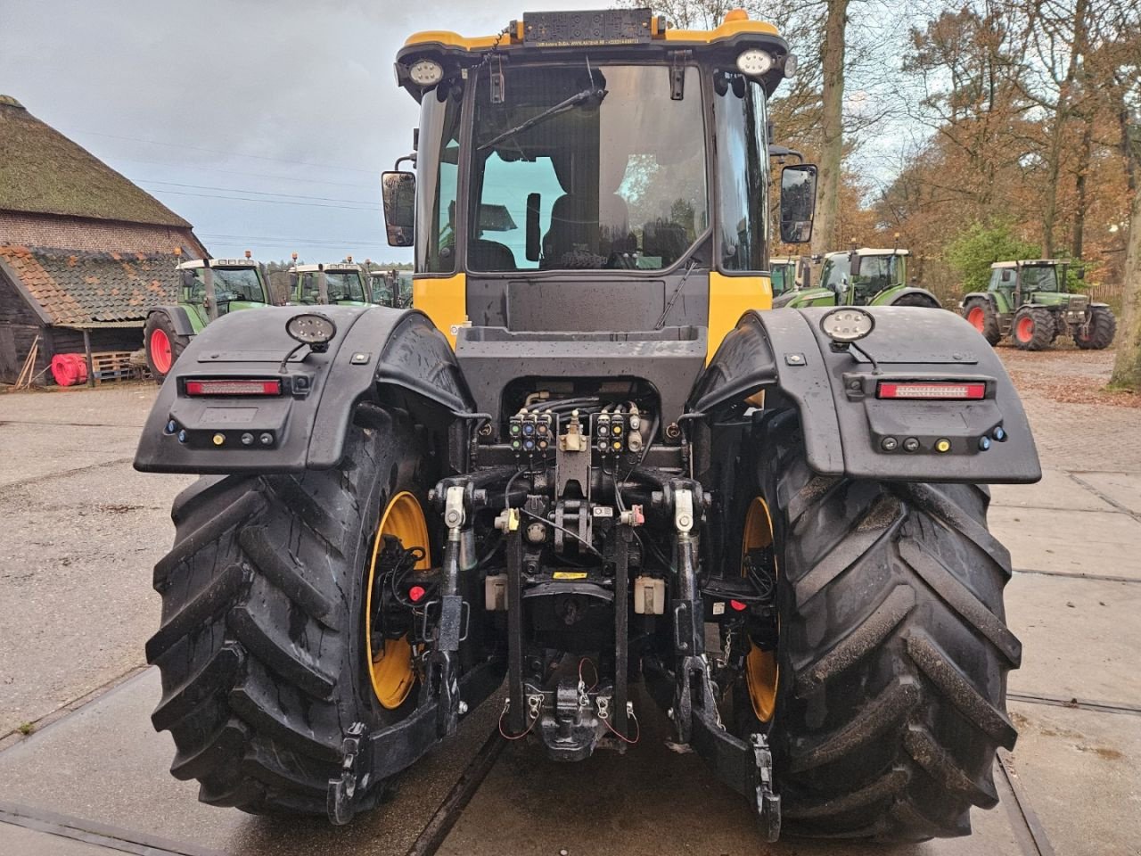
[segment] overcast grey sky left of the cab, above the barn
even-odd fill
[[[418,118],[396,51],[416,31],[482,35],[568,6],[582,3],[0,0],[0,94],[189,220],[213,256],[410,261],[380,211],[380,173]]]

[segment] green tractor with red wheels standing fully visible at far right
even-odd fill
[[[1009,336],[1017,348],[1042,350],[1062,334],[1083,350],[1108,348],[1117,332],[1112,310],[1069,291],[1068,273],[1069,264],[1055,259],[996,261],[987,290],[966,294],[960,308],[992,345]]]

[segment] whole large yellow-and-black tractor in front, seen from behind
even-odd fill
[[[1021,649],[986,485],[1037,481],[1034,439],[962,318],[767,312],[794,71],[741,10],[400,48],[413,307],[222,318],[139,441],[202,476],[147,643],[202,801],[348,823],[502,687],[537,775],[656,717],[770,841],[964,835],[997,802]],[[816,176],[782,170],[785,243]]]

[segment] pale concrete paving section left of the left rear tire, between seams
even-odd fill
[[[0,491],[0,736],[143,664],[152,568],[193,481],[121,462]]]

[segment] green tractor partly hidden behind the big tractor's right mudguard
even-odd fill
[[[939,298],[907,282],[907,250],[852,248],[824,257],[820,284],[798,289],[772,301],[772,307],[791,306],[926,306],[941,307]]]

